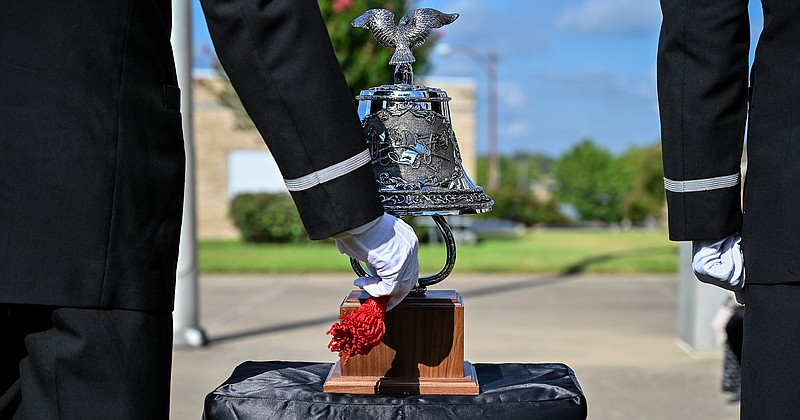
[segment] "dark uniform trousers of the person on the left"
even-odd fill
[[[167,419],[172,314],[0,304],[0,419]]]

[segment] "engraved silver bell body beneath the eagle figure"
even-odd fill
[[[394,84],[362,90],[357,99],[387,212],[433,216],[491,210],[492,200],[462,167],[447,92]]]

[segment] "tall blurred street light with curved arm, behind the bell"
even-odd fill
[[[494,51],[482,53],[472,47],[459,44],[439,44],[436,50],[440,55],[447,56],[455,52],[464,53],[483,66],[486,71],[488,90],[488,179],[486,189],[495,191],[500,186],[500,162],[497,155],[497,64],[499,57]]]

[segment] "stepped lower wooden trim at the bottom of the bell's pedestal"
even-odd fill
[[[463,378],[409,378],[342,376],[341,362],[331,367],[322,390],[337,394],[371,395],[478,395],[478,375],[464,362]]]

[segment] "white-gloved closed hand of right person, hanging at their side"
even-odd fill
[[[732,290],[744,304],[745,270],[740,247],[742,237],[734,233],[719,241],[692,242],[692,269],[703,283]]]

